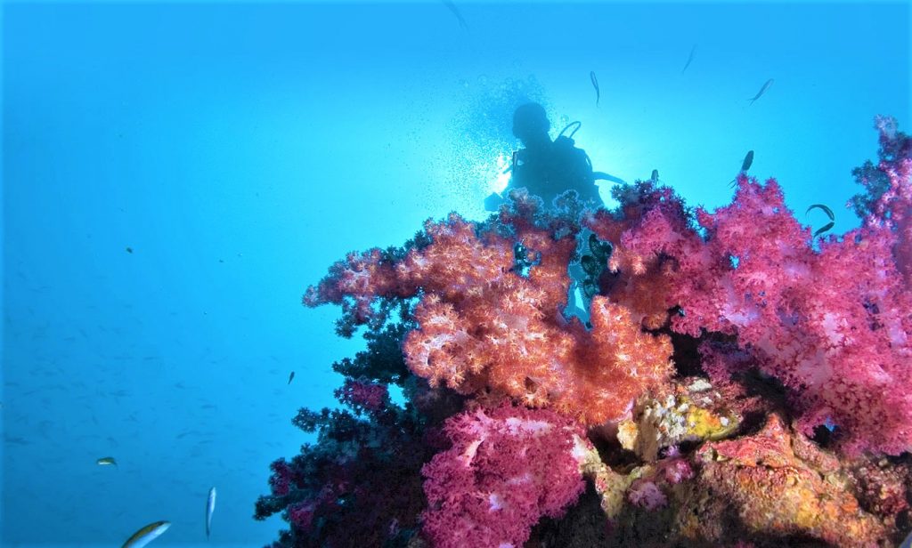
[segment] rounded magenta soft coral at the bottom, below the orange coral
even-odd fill
[[[452,447],[424,466],[423,533],[437,548],[522,546],[583,492],[585,431],[552,411],[503,405],[452,417]]]

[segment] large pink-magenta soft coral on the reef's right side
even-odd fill
[[[818,252],[774,180],[738,182],[731,206],[698,210],[706,238],[668,208],[634,219],[613,259],[634,272],[627,292],[662,288],[661,306],[682,310],[673,330],[737,335],[755,363],[791,389],[803,431],[830,420],[847,452],[906,451],[912,299],[891,252],[895,232],[860,228]],[[661,276],[637,283],[637,271],[655,271],[659,261]]]

